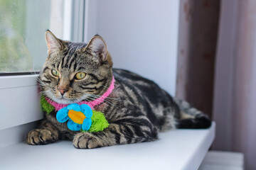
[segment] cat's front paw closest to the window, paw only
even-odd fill
[[[29,145],[46,145],[55,141],[52,132],[43,129],[31,130],[26,139]]]

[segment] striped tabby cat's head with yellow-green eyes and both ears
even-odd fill
[[[92,101],[107,91],[112,60],[99,35],[86,44],[60,40],[47,30],[46,43],[48,57],[39,77],[44,96],[69,104]]]

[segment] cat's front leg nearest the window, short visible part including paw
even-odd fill
[[[47,120],[43,120],[38,129],[28,132],[26,140],[29,145],[46,145],[58,140],[59,136],[57,128]]]

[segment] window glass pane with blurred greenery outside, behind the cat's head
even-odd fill
[[[65,1],[0,0],[0,73],[41,70],[45,31],[65,37]]]

